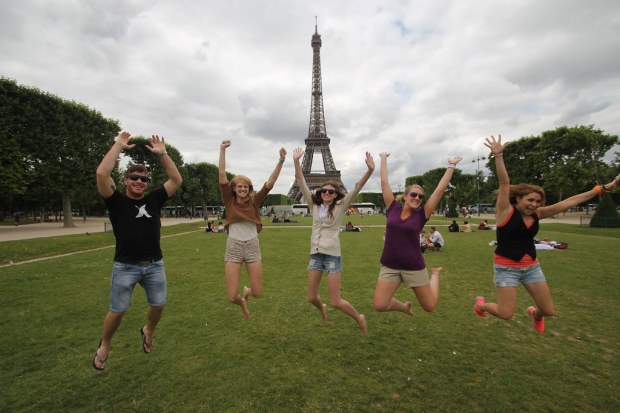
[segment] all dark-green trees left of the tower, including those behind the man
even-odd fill
[[[16,81],[0,78],[0,219],[62,217],[73,226],[73,215],[104,215],[95,170],[120,132],[119,122],[87,106],[63,100]],[[155,155],[145,149],[146,137],[132,138],[124,162],[149,167],[153,185],[161,185],[164,171]],[[179,165],[183,187],[169,204],[188,213],[199,205],[220,205],[218,171],[209,163],[184,164],[180,152],[166,144]],[[231,174],[229,174],[232,177]],[[113,178],[122,191],[118,165]]]

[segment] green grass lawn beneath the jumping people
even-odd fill
[[[226,236],[183,224],[162,228],[169,301],[153,352],[142,352],[138,287],[103,372],[91,360],[112,234],[0,243],[2,264],[69,254],[0,268],[0,411],[620,411],[619,229],[542,225],[541,238],[569,248],[539,252],[558,314],[539,335],[523,289],[513,320],[475,315],[476,295],[495,297],[495,233],[448,233],[443,218],[427,228],[438,226],[446,247],[425,254],[444,268],[437,310],[375,312],[384,218],[350,220],[363,231],[341,234],[342,295],[366,315],[368,336],[332,309],[322,323],[306,301],[310,218],[265,222],[264,293],[249,321],[226,299]],[[413,298],[403,287],[397,296]]]

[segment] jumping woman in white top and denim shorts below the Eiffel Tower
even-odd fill
[[[308,264],[308,301],[318,308],[323,321],[327,320],[327,306],[323,304],[318,292],[323,271],[327,271],[330,305],[357,321],[360,333],[365,335],[368,332],[366,318],[340,296],[340,275],[342,274],[340,226],[347,208],[375,170],[375,161],[370,153],[366,152],[365,162],[368,170],[346,196],[333,182],[324,183],[313,195],[306,184],[299,162],[303,154],[302,148],[293,151],[295,178],[304,199],[308,202],[308,207],[311,208],[313,217],[310,263]]]

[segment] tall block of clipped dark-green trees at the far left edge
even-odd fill
[[[117,121],[10,79],[2,78],[0,85],[3,114],[8,113],[1,122],[9,125],[0,130],[17,155],[12,168],[19,165],[24,171],[21,178],[27,181],[22,182],[27,188],[22,205],[28,198],[58,197],[64,226],[73,226],[71,193],[96,187],[95,170],[119,131]],[[11,182],[15,186],[17,181]],[[19,196],[19,192],[12,194]]]

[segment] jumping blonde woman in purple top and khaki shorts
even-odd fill
[[[442,268],[431,268],[429,277],[420,248],[420,231],[439,204],[456,165],[463,158],[455,156],[448,159],[446,172],[424,203],[424,188],[420,185],[408,186],[402,198],[396,200],[388,182],[387,158],[390,154],[382,152],[379,156],[387,224],[373,307],[377,311],[400,311],[413,315],[411,301],[403,303],[394,298],[394,293],[404,283],[411,288],[424,311],[431,312],[439,300],[439,274]]]

